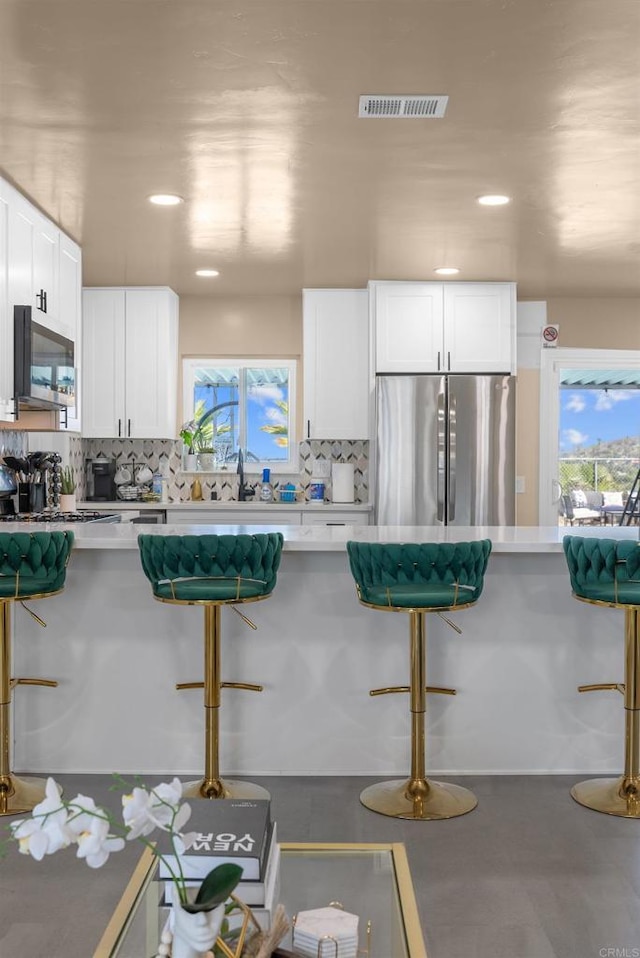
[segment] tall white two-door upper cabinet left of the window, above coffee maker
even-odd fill
[[[83,291],[82,434],[175,439],[178,297],[166,287]]]

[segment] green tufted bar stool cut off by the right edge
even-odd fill
[[[611,689],[624,696],[624,772],[594,778],[571,789],[576,802],[621,818],[640,818],[640,544],[624,539],[565,536],[562,540],[576,599],[624,609],[624,684],[580,685],[579,692]]]

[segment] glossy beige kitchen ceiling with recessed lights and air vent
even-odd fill
[[[358,119],[361,94],[449,102]],[[85,285],[457,266],[522,299],[640,296],[640,2],[0,0],[0,174],[81,243]]]

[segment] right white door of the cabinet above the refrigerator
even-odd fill
[[[444,287],[445,369],[457,373],[515,371],[514,283]]]

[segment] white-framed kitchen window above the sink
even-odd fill
[[[185,359],[193,451],[212,455],[213,471],[235,469],[242,449],[246,472],[297,472],[295,377],[290,359]]]

